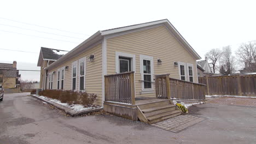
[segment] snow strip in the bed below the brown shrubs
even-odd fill
[[[57,104],[60,104],[60,105],[66,106],[66,107],[69,107],[70,109],[72,109],[74,111],[82,111],[82,110],[89,110],[89,109],[95,109],[96,108],[96,107],[84,107],[83,105],[79,105],[79,104],[68,105],[67,103],[61,103],[60,100],[51,99],[51,98],[48,98],[48,97],[44,97],[42,95],[38,96],[38,95],[34,94],[34,96],[42,98],[44,100],[52,101],[54,103],[57,103]],[[43,102],[43,103],[45,103],[45,102]]]

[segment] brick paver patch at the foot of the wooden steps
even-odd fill
[[[165,121],[152,124],[155,127],[178,133],[194,124],[202,122],[205,118],[191,115],[180,115],[177,117],[166,119]]]

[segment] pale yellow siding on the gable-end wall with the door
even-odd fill
[[[170,74],[170,77],[176,79],[179,79],[179,71],[173,63],[176,61],[191,63],[194,68],[194,82],[197,82],[196,59],[164,26],[107,39],[107,74],[115,74],[116,51],[136,55],[136,97],[155,97],[155,93],[141,94],[140,54],[154,57],[155,75]],[[162,60],[162,65],[157,63],[159,58]]]

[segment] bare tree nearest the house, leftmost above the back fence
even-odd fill
[[[216,71],[216,63],[222,57],[222,51],[220,49],[212,49],[205,54],[205,56],[210,59],[210,64],[212,64],[213,73]]]

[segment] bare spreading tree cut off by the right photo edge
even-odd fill
[[[256,62],[256,41],[241,44],[236,51],[236,57],[241,65],[247,63],[249,67],[252,66]]]

